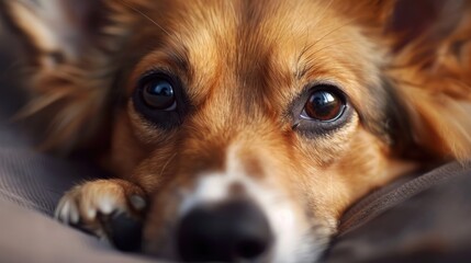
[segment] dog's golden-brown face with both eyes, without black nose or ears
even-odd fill
[[[360,121],[386,122],[382,50],[316,1],[161,7],[141,18],[149,49],[112,128],[111,163],[154,195],[145,249],[173,254],[188,214],[243,198],[269,256],[314,259],[347,205],[402,172]]]

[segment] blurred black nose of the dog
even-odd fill
[[[178,228],[178,249],[186,262],[256,260],[271,243],[266,217],[248,201],[194,208]]]

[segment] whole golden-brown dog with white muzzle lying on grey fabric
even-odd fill
[[[314,262],[343,213],[471,153],[471,4],[2,0],[44,147],[114,176],[56,216],[184,262]],[[66,176],[66,175],[65,175]]]

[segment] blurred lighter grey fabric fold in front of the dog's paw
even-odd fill
[[[48,217],[0,199],[0,262],[155,262],[124,254]]]

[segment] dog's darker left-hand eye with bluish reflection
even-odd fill
[[[143,99],[147,106],[171,111],[177,106],[173,85],[166,79],[155,79],[145,84],[143,89]]]

